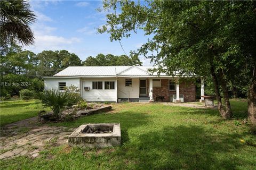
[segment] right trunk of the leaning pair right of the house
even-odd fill
[[[226,83],[225,75],[223,74],[222,70],[219,70],[219,75],[220,75],[220,84],[223,91],[223,97],[226,105],[226,115],[227,115],[227,118],[230,118],[232,117],[232,111],[231,111],[231,106],[229,102],[227,83]]]

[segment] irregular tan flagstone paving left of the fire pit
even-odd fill
[[[24,155],[35,158],[43,149],[67,143],[74,130],[38,123],[37,117],[5,125],[1,128],[0,159]]]

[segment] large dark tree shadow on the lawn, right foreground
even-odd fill
[[[167,126],[141,134],[133,150],[120,153],[132,169],[236,169],[252,162],[239,158],[241,143],[233,135],[215,137],[200,126]],[[120,151],[122,152],[122,150]],[[127,158],[130,158],[127,160]],[[121,165],[120,165],[121,166]]]

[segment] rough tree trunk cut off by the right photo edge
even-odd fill
[[[256,125],[256,72],[253,70],[252,83],[248,90],[248,120]]]

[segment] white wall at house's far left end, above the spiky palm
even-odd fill
[[[80,78],[68,78],[68,79],[45,79],[44,89],[45,90],[59,90],[59,82],[66,82],[66,87],[74,85],[80,89]]]

